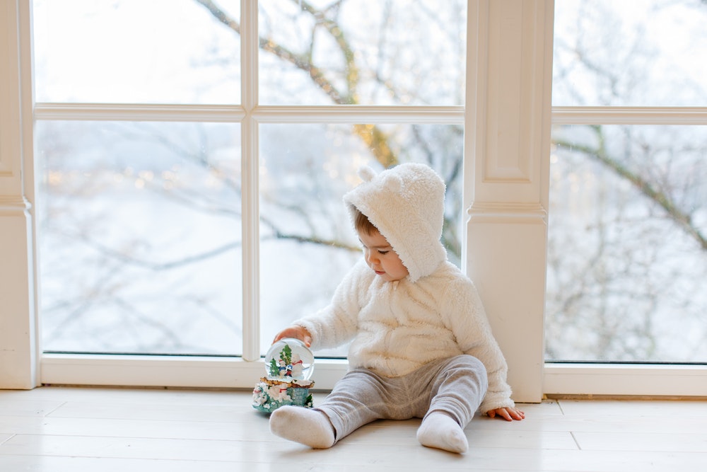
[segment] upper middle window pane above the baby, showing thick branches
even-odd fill
[[[260,103],[462,105],[466,4],[262,0]]]

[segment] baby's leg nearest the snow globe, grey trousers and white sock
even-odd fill
[[[315,449],[332,447],[359,427],[385,417],[385,380],[356,369],[337,382],[317,408],[281,407],[270,416],[270,430]]]

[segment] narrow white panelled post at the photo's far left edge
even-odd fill
[[[18,2],[0,4],[0,388],[38,381],[32,217],[23,182],[31,137],[23,135],[28,91],[21,88],[17,18]]]

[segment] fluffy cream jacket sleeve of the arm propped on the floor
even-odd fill
[[[443,316],[446,322],[455,334],[462,352],[479,359],[486,367],[489,377],[489,389],[479,410],[486,413],[496,408],[515,406],[510,398],[512,392],[506,380],[508,364],[501,347],[493,338],[484,305],[481,304],[473,282],[464,277],[449,284],[445,292]]]

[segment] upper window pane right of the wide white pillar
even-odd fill
[[[707,105],[707,3],[556,0],[553,105]]]

